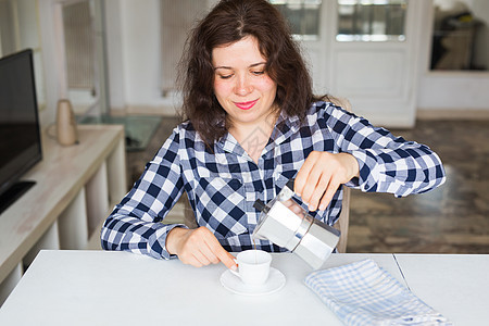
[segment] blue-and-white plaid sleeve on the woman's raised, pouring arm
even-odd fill
[[[404,197],[444,183],[441,160],[427,146],[394,137],[335,105],[326,108],[326,113],[339,151],[351,153],[359,162],[360,178],[353,178],[347,186]]]

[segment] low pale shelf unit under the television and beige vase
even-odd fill
[[[100,248],[100,227],[127,192],[124,127],[80,125],[79,143],[42,133],[42,161],[23,176],[36,185],[0,216],[0,304],[42,249]]]

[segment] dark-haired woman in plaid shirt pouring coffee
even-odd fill
[[[311,78],[278,11],[264,0],[221,1],[186,49],[178,125],[102,229],[102,247],[195,266],[253,246],[256,199],[296,177],[296,200],[333,225],[341,185],[398,197],[444,181],[426,146],[393,137],[312,93]],[[160,223],[186,191],[197,229]],[[256,248],[285,251],[269,241]]]

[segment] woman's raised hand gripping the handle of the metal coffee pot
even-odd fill
[[[299,170],[293,190],[310,211],[324,211],[338,188],[355,176],[359,163],[352,154],[313,151]]]

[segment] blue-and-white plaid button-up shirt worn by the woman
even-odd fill
[[[166,235],[183,225],[161,222],[186,191],[199,226],[208,227],[228,251],[251,249],[260,216],[254,201],[275,198],[311,151],[355,156],[360,178],[347,186],[362,191],[403,197],[444,181],[440,159],[428,147],[396,138],[329,102],[314,103],[303,125],[281,114],[277,126],[256,164],[230,134],[211,151],[190,123],[178,125],[105,221],[102,248],[168,259]],[[247,145],[256,139],[250,135]],[[341,199],[340,187],[328,208],[312,215],[333,225],[341,212]],[[301,203],[300,198],[296,200]],[[266,240],[256,240],[256,248],[285,251]]]

